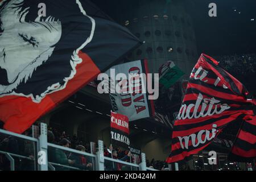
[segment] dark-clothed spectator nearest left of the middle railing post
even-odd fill
[[[79,146],[76,146],[76,150],[85,152],[85,147],[79,145]],[[73,167],[76,167],[82,170],[92,170],[92,163],[87,163],[87,160],[84,155],[72,154],[69,157],[69,159],[74,161],[74,163],[72,164]]]

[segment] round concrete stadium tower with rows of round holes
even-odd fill
[[[191,73],[197,60],[195,31],[191,17],[180,1],[123,1],[114,19],[129,28],[145,43],[127,56],[146,58],[151,73],[166,60],[172,60],[185,73]],[[119,6],[120,7],[120,6]]]

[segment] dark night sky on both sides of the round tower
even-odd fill
[[[118,5],[123,6],[121,1],[125,0],[92,0],[113,19],[115,17],[112,12],[118,9]],[[179,1],[183,1],[185,9],[193,19],[199,54],[204,52],[209,55],[229,55],[256,52],[255,0]],[[208,5],[211,2],[217,5],[217,17],[208,16]],[[236,11],[234,11],[235,9]],[[239,12],[241,13],[239,14]],[[254,18],[254,21],[251,21],[251,18]]]

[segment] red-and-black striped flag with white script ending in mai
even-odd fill
[[[255,146],[256,142],[255,122],[250,120],[255,119],[255,114],[253,101],[246,98],[248,94],[240,81],[218,66],[218,61],[202,54],[191,72],[187,92],[174,123],[171,154],[167,162],[178,162],[197,154],[207,147],[228,123],[238,119],[247,121],[254,129],[249,135],[243,133],[250,131],[249,129],[241,128],[238,138],[251,145],[247,145],[246,149],[242,146],[243,150],[234,148],[233,152],[255,157],[255,148],[250,148]],[[247,125],[246,122],[243,124]]]

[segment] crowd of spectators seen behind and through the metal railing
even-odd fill
[[[32,130],[27,130],[24,135],[32,136]],[[63,147],[73,148],[75,150],[90,153],[90,144],[84,142],[84,140],[77,138],[76,135],[68,135],[65,131],[58,130],[56,128],[48,128],[48,142],[57,144]],[[19,139],[16,137],[7,137],[7,135],[0,135],[0,151],[7,151],[12,154],[18,154],[27,156],[31,160],[27,159],[15,159],[15,170],[34,170],[35,169],[35,154],[34,144],[28,140]],[[97,150],[97,144],[96,144]],[[121,147],[113,148],[104,146],[104,156],[122,160],[125,162],[134,163],[135,158],[129,150],[122,150]],[[140,163],[141,156],[138,156],[137,164]],[[59,150],[57,148],[48,147],[48,162],[61,164],[63,166],[54,166],[58,171],[74,170],[64,166],[71,166],[82,170],[93,169],[93,159],[84,155],[72,154],[65,150]],[[167,171],[169,170],[168,164],[164,161],[152,159],[150,162],[147,160],[147,167]],[[0,170],[10,170],[10,161],[5,155],[0,154]],[[105,160],[106,171],[130,171],[135,170],[130,166],[125,166],[121,163],[111,162]]]

